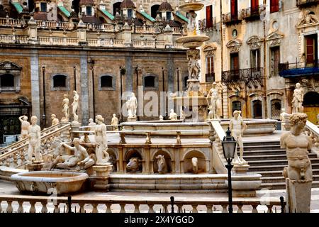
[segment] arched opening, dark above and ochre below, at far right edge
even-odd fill
[[[308,92],[303,96],[303,112],[308,115],[308,121],[318,124],[319,93]]]

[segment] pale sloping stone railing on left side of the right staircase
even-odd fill
[[[213,167],[218,174],[225,174],[227,173],[227,169],[225,167],[227,162],[223,154],[223,146],[221,141],[223,141],[226,133],[219,121],[211,121],[210,127],[211,135],[209,139],[211,140],[213,146]]]

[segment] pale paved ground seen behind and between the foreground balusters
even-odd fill
[[[18,195],[18,189],[16,189],[15,185],[12,182],[6,182],[4,180],[0,180],[0,195],[4,194],[11,194],[11,195]],[[174,196],[176,201],[191,201],[191,200],[200,200],[200,201],[216,201],[216,200],[221,200],[221,201],[228,201],[228,194],[222,194],[222,193],[197,193],[197,194],[177,194],[177,193],[135,193],[135,192],[86,192],[82,194],[77,194],[72,196],[74,199],[80,199],[80,198],[85,198],[85,199],[121,199],[121,200],[156,200],[156,201],[162,201],[162,200],[169,200],[170,196]],[[269,199],[277,200],[279,201],[280,196],[285,196],[285,190],[268,190],[268,189],[262,189],[257,192],[257,197],[254,199],[259,199],[262,201],[262,204],[267,204],[267,201]],[[233,200],[242,200],[242,198],[234,198]],[[252,198],[246,198],[244,200],[249,201]],[[6,202],[3,201],[1,203],[2,209],[5,211],[6,210]],[[26,206],[28,207],[30,206]],[[53,206],[52,204],[49,204],[48,206],[49,211],[53,211]],[[91,205],[86,205],[85,206],[87,210],[91,210]],[[120,206],[118,204],[114,204],[111,206],[111,211],[112,212],[119,212],[120,211]],[[16,202],[13,202],[13,211],[16,211],[18,209],[18,204]],[[41,207],[40,205],[37,206],[37,211],[40,211]],[[106,206],[104,205],[99,205],[98,206],[99,212],[105,212],[106,211]],[[155,205],[154,210],[155,212],[159,212],[162,210],[162,206],[160,205]],[[176,207],[177,209],[177,207]],[[192,210],[191,206],[183,206],[184,211],[190,212]],[[206,206],[198,206],[198,212],[206,212]],[[251,212],[252,207],[251,206],[243,206],[243,211],[244,212]],[[312,189],[312,194],[311,194],[311,212],[312,213],[319,213],[319,188]],[[63,206],[60,206],[60,210],[63,211]],[[77,206],[77,210],[79,210],[79,206]],[[221,212],[222,207],[221,206],[214,206],[213,211],[216,212]],[[237,207],[234,206],[234,211],[237,210]],[[257,210],[262,213],[267,211],[267,206],[258,206]],[[126,205],[125,206],[125,211],[126,212],[133,212],[134,211],[134,206],[133,205]],[[148,207],[146,205],[141,205],[140,206],[140,211],[147,212]],[[276,211],[280,212],[280,206],[276,207]]]

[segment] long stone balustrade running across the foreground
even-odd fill
[[[65,196],[0,195],[0,213],[227,213],[228,198],[176,200],[168,198],[150,199],[68,199]],[[269,199],[233,199],[237,213],[284,212],[286,202]]]

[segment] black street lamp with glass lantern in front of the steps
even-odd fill
[[[228,170],[228,212],[233,213],[233,195],[232,195],[232,161],[235,156],[235,149],[236,149],[236,140],[231,135],[231,131],[228,127],[226,131],[226,136],[223,138],[221,142],[223,145],[223,153],[224,157],[227,160],[226,168]]]

